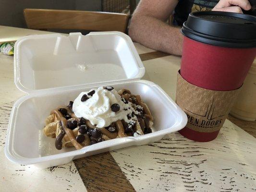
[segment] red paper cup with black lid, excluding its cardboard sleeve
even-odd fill
[[[242,86],[256,56],[256,17],[230,12],[191,13],[183,24],[181,75],[190,84],[215,91]],[[187,127],[184,137],[207,142],[219,133]]]

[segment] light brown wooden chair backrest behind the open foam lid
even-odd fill
[[[126,32],[128,15],[110,12],[24,9],[30,29],[76,29]]]

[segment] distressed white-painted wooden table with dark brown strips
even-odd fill
[[[160,85],[174,99],[181,58],[137,43],[135,47],[146,68],[143,79]],[[152,144],[38,170],[13,164],[4,156],[12,105],[24,93],[13,82],[13,57],[1,53],[0,90],[0,191],[256,191],[256,122],[229,117],[217,139],[208,143],[190,141],[175,132]]]

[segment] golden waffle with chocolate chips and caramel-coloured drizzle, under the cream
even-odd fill
[[[130,117],[134,119],[129,123],[124,120],[117,120],[108,127],[97,128],[89,120],[77,118],[72,107],[60,106],[52,110],[49,117],[46,118],[44,134],[47,137],[56,138],[55,146],[59,150],[63,147],[73,146],[78,150],[84,146],[110,139],[152,132],[153,116],[147,105],[142,102],[141,97],[132,95],[127,89],[118,91],[118,94],[123,102],[130,102],[130,105],[135,109],[134,116]]]

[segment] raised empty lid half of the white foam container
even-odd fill
[[[145,68],[121,32],[25,36],[15,43],[14,82],[26,92],[134,81]]]

